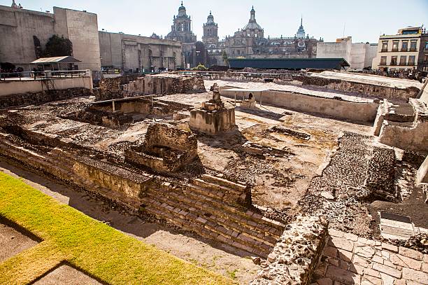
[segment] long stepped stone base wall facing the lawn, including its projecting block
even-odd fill
[[[192,183],[162,182],[129,165],[124,168],[82,154],[0,134],[0,156],[214,239],[228,250],[266,257],[284,230],[282,223],[248,207],[250,188],[245,185],[209,175]]]

